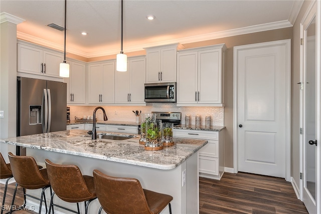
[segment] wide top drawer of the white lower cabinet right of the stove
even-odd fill
[[[218,140],[219,133],[216,131],[182,130],[173,129],[174,137],[196,138],[205,140]]]

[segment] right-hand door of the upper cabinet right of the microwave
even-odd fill
[[[199,51],[198,103],[222,103],[221,53],[219,50]]]

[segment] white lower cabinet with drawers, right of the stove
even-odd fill
[[[224,173],[224,129],[221,131],[200,131],[174,129],[174,137],[207,140],[199,150],[199,175],[220,180]]]

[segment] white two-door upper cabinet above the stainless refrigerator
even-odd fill
[[[18,72],[60,78],[59,65],[63,62],[63,53],[23,41],[18,41],[17,48]]]

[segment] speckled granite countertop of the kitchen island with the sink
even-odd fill
[[[85,130],[67,130],[0,139],[0,143],[165,170],[176,168],[207,144],[206,140],[174,138],[174,146],[159,151],[146,151],[144,145],[139,144],[139,135],[117,132],[97,134],[133,138],[92,140]]]

